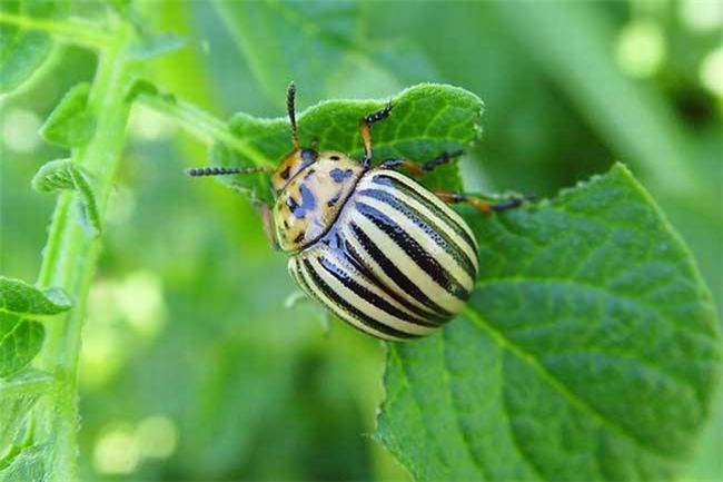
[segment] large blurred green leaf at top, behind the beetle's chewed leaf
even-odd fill
[[[399,36],[380,36],[369,7],[349,0],[214,2],[258,87],[277,106],[289,80],[305,86],[300,104],[369,97],[438,78],[422,49]],[[247,87],[245,87],[247,88]],[[256,90],[254,90],[256,92]]]

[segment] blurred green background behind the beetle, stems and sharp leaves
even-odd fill
[[[552,196],[626,163],[723,299],[723,7],[583,3],[156,2],[187,39],[146,75],[220,117],[390,96],[420,82],[486,102],[464,159],[471,189]],[[158,7],[158,8],[156,8]],[[82,6],[81,6],[82,10]],[[280,53],[279,53],[280,52]],[[61,47],[0,100],[0,273],[34,279],[53,196],[30,189],[62,157],[37,129],[96,58]],[[384,350],[326,331],[239,195],[182,168],[205,147],[133,109],[81,354],[85,480],[406,480],[373,440]],[[644,336],[644,334],[641,334]],[[723,479],[723,397],[683,480]]]

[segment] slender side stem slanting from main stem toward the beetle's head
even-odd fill
[[[226,122],[207,111],[180,99],[169,100],[162,96],[141,94],[137,100],[143,106],[162,114],[204,142],[224,142],[229,148],[249,158],[257,166],[276,166],[265,154],[250,142],[234,135]]]

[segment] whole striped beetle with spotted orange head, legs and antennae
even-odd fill
[[[475,236],[447,204],[467,203],[489,214],[517,207],[524,198],[493,205],[432,191],[413,179],[462,151],[442,153],[422,165],[387,159],[373,166],[372,126],[390,115],[392,102],[360,119],[360,161],[344,153],[304,148],[295,96],[291,82],[287,110],[293,149],[276,169],[204,167],[187,174],[271,174],[276,201],[271,209],[259,206],[264,226],[271,243],[289,254],[289,274],[307,295],[378,338],[402,341],[434,332],[464,307],[478,270]]]

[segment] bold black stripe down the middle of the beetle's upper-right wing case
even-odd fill
[[[389,218],[378,209],[357,201],[355,208],[369,219],[376,227],[385,233],[396,245],[402,248],[407,256],[409,256],[419,268],[427,273],[439,286],[442,286],[450,295],[467,301],[469,292],[467,292],[455,278],[439,264],[434,257],[429,255],[419,243],[417,243],[409,233],[404,230],[402,226]]]

